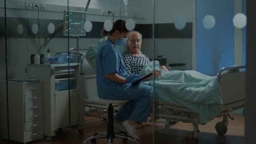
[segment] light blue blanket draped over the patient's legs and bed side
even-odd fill
[[[159,69],[159,62],[150,62],[140,75]],[[168,101],[187,107],[199,114],[199,123],[204,124],[215,118],[222,109],[222,95],[216,77],[203,75],[193,70],[163,72],[161,77],[143,82],[154,86],[155,100]]]

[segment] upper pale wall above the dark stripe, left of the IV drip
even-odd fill
[[[34,14],[31,11],[25,10],[24,4],[26,3],[37,3],[46,5],[45,10],[40,11],[41,19],[63,19],[63,11],[67,10],[67,0],[8,0],[6,3],[7,16],[8,17],[26,17],[33,18],[37,14],[34,10]],[[87,0],[69,0],[70,11],[84,11]],[[128,3],[128,17],[133,18],[137,24],[143,23],[144,11],[140,7],[143,1],[130,0]],[[3,5],[0,5],[0,10],[3,11]],[[105,11],[101,14],[101,10]],[[112,14],[107,13],[111,11],[114,13],[114,20],[119,19],[119,0],[91,0],[88,8],[88,21],[105,21],[106,19],[112,20]],[[53,13],[55,12],[55,13]],[[3,13],[0,13],[3,16]],[[121,0],[121,16],[122,19],[126,19],[125,8],[123,0]]]

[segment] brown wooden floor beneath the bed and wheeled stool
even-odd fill
[[[244,144],[244,116],[232,115],[235,120],[229,119],[228,131],[225,136],[219,136],[215,131],[215,124],[221,121],[221,117],[215,118],[206,125],[200,125],[199,144]],[[137,125],[137,132],[140,144],[153,144],[153,124],[143,123]],[[102,118],[85,116],[85,131],[80,135],[77,130],[71,129],[69,139],[69,128],[62,128],[56,132],[56,136],[51,141],[37,140],[27,144],[82,144],[83,140],[93,136],[94,132],[105,132],[106,123]],[[192,131],[191,123],[177,123],[171,128],[164,128],[163,124],[155,126],[155,144],[195,144],[192,139],[186,138]],[[122,139],[115,139],[115,144],[136,144],[133,140],[126,143]],[[0,144],[19,144],[13,141],[0,141]],[[107,139],[98,139],[96,144],[107,144]],[[88,141],[87,144],[91,144]]]

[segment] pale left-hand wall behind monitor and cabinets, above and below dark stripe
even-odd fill
[[[40,19],[63,19],[63,13],[67,9],[65,5],[67,5],[67,0],[26,0],[26,3],[43,3],[43,4],[51,4],[56,5],[56,11],[54,12],[53,9],[47,9],[47,11],[40,11]],[[119,1],[118,0],[91,0],[89,5],[88,13],[90,11],[96,11],[96,15],[88,14],[87,20],[89,21],[105,21],[106,19],[112,19],[112,16],[101,16],[97,13],[97,10],[109,10],[114,12],[116,16],[115,19],[119,18]],[[121,0],[122,2],[122,0]],[[142,11],[139,8],[143,1],[136,2],[134,0],[130,0],[128,4],[128,16],[129,13],[140,13]],[[1,0],[3,3],[3,0]],[[22,9],[24,4],[22,1],[17,0],[8,0],[7,1],[7,16],[8,17],[21,17],[21,18],[37,18],[37,11],[32,10],[24,10]],[[84,0],[69,0],[69,6],[75,7],[84,7],[87,1]],[[51,7],[51,5],[47,5]],[[62,6],[61,6],[62,5]],[[63,6],[64,5],[64,6]],[[1,10],[3,10],[3,5],[0,5]],[[48,8],[48,7],[47,7]],[[62,10],[61,10],[62,8]],[[95,9],[93,9],[95,8]],[[121,12],[122,15],[124,14],[124,6],[123,2],[121,3]],[[0,16],[4,16],[3,13],[0,13]],[[136,23],[141,23],[142,19],[134,18]],[[35,21],[37,23],[37,21]],[[29,28],[30,29],[30,28]],[[16,29],[13,29],[16,30]],[[45,29],[46,30],[46,29]],[[100,31],[100,29],[99,29]],[[43,43],[43,39],[41,38],[41,44]],[[99,38],[93,39],[80,39],[80,47],[88,47],[92,44],[97,44]],[[67,51],[68,47],[76,47],[76,40],[70,39],[70,45],[68,46],[68,40],[64,38],[54,38],[48,44],[47,48],[51,48],[51,55],[54,56],[54,53],[57,52],[65,52]],[[25,67],[27,63],[30,62],[30,54],[36,53],[38,50],[39,41],[38,38],[8,38],[7,39],[8,45],[8,72],[9,78],[26,78],[27,75],[25,74]],[[36,48],[37,45],[37,48]],[[37,49],[37,50],[36,50]],[[46,54],[46,50],[44,51]]]

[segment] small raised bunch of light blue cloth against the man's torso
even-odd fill
[[[155,67],[154,67],[155,66]],[[159,70],[159,71],[162,71],[160,69],[160,64],[159,64],[159,61],[150,61],[148,64],[146,64],[143,69],[141,69],[141,71],[139,72],[139,75],[140,76],[143,76],[143,75],[147,75],[149,74],[150,72],[153,72],[153,70]]]

